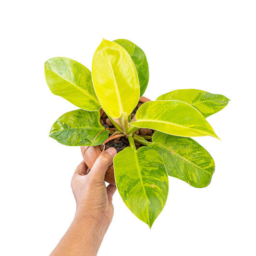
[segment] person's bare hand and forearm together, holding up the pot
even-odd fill
[[[76,201],[73,222],[50,256],[95,256],[113,218],[115,185],[106,187],[105,173],[116,149],[108,148],[91,170],[82,161],[74,172],[71,187]]]

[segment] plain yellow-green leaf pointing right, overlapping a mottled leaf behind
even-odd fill
[[[198,110],[179,100],[145,102],[136,112],[136,121],[131,124],[184,137],[210,135],[218,138]]]

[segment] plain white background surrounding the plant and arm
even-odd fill
[[[91,69],[102,37],[146,53],[145,96],[196,88],[230,98],[207,118],[221,141],[196,138],[215,159],[212,183],[169,179],[153,227],[114,195],[99,256],[255,256],[256,5],[249,0],[4,1],[0,7],[0,255],[45,256],[73,220],[70,187],[79,147],[48,137],[75,110],[49,91],[44,62],[68,57]]]

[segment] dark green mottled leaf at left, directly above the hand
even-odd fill
[[[99,111],[73,110],[53,124],[49,136],[67,146],[97,146],[109,136],[107,131],[97,136],[104,129],[99,122]]]

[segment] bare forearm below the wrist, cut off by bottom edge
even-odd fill
[[[96,256],[107,229],[97,219],[76,216],[50,256]]]

